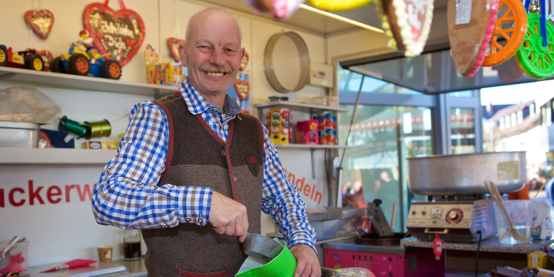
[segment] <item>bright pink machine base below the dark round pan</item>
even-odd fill
[[[365,268],[376,277],[444,276],[444,253],[435,260],[433,249],[409,254],[384,254],[325,248],[326,268]]]

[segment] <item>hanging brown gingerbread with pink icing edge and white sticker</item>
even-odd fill
[[[493,35],[499,0],[448,0],[450,53],[461,75],[473,77]]]

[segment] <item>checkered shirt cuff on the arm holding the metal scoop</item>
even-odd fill
[[[213,188],[179,187],[177,207],[180,220],[183,223],[194,223],[203,226],[209,222],[209,212],[212,204]]]

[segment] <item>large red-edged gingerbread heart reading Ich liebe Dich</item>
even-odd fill
[[[124,66],[139,51],[146,35],[144,22],[130,9],[117,12],[102,3],[92,3],[83,12],[83,23],[102,54],[112,53]]]

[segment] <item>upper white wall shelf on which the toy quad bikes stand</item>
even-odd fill
[[[120,80],[9,68],[7,66],[0,66],[0,81],[6,83],[53,86],[55,88],[148,95],[152,97],[177,90],[175,86],[129,83]]]

